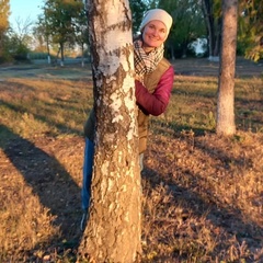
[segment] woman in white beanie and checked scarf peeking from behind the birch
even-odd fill
[[[174,70],[163,58],[163,43],[172,26],[172,18],[161,9],[149,10],[141,22],[140,35],[134,42],[135,87],[138,105],[138,134],[140,169],[147,147],[149,115],[162,114],[171,95]],[[81,191],[83,216],[81,230],[84,230],[90,203],[90,187],[94,156],[95,115],[92,110],[84,125],[85,149],[83,165],[83,184]]]

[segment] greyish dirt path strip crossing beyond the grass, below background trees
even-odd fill
[[[175,73],[182,76],[217,77],[219,62],[207,58],[185,58],[172,61]],[[263,76],[263,62],[255,64],[244,58],[237,58],[236,77],[251,78]],[[90,65],[84,68],[80,64],[65,62],[65,67],[54,67],[46,64],[0,66],[0,79],[3,78],[62,78],[62,79],[91,79]]]

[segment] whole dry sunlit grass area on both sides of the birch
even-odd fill
[[[151,119],[144,262],[263,261],[262,79],[238,79],[239,132],[218,138],[213,77],[176,77]],[[0,262],[75,262],[89,79],[0,82]]]

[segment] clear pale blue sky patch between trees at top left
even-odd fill
[[[37,20],[37,15],[42,13],[43,0],[10,0],[9,23],[11,26],[18,24],[15,21],[25,22],[27,19],[31,22]]]

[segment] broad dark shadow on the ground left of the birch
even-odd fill
[[[79,230],[80,187],[53,153],[45,152],[3,125],[0,125],[0,130],[9,134],[8,137],[11,138],[8,142],[1,144],[3,152],[23,175],[33,193],[39,197],[42,205],[49,208],[55,217],[54,225],[59,227],[60,237],[50,240],[48,248],[59,245],[65,250],[78,247],[82,235]],[[43,140],[43,145],[47,145],[53,138]]]

